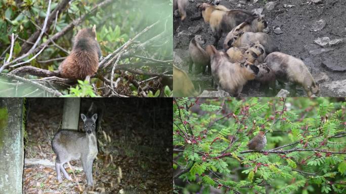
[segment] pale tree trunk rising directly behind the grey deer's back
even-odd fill
[[[64,100],[64,112],[62,129],[78,130],[80,98],[66,98]]]

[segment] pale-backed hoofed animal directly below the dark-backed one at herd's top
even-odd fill
[[[231,42],[230,42],[231,41]],[[242,47],[244,45],[251,44],[253,42],[260,42],[266,50],[266,54],[270,54],[279,51],[277,44],[274,40],[264,32],[242,32],[237,33],[232,39],[229,40],[230,45],[235,47]]]

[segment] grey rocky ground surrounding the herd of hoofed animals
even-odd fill
[[[200,34],[206,39],[206,45],[214,41],[209,24],[203,19],[191,21],[200,14],[196,5],[201,2],[190,1],[188,17],[183,23],[179,18],[174,19],[175,63],[186,72],[191,38]],[[221,0],[220,4],[229,9],[262,13],[268,22],[266,32],[278,43],[281,52],[305,62],[320,84],[320,96],[346,96],[346,4],[343,0]],[[219,41],[218,49],[222,49],[225,36]],[[192,73],[189,76],[196,88],[199,84],[202,89],[212,89],[211,76]],[[247,84],[241,95],[270,96],[259,88],[259,84]],[[290,91],[288,84],[283,89]],[[306,93],[297,86],[296,95],[306,96]]]

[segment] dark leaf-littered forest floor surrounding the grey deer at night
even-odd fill
[[[96,102],[95,102],[96,101]],[[153,101],[153,100],[152,100]],[[81,170],[65,168],[59,184],[54,166],[25,165],[23,193],[167,193],[172,189],[171,102],[98,99],[105,105],[102,131],[97,133],[99,154],[94,160],[94,187],[88,187]],[[25,160],[55,163],[51,140],[60,128],[63,99],[28,99]],[[88,110],[92,100],[82,100]],[[131,103],[132,102],[132,103]],[[154,105],[153,105],[154,104]],[[121,111],[120,111],[121,110]],[[85,111],[86,112],[86,111]],[[79,123],[81,129],[82,123]],[[80,161],[71,166],[81,168]]]

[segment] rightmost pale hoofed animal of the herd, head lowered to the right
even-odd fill
[[[267,56],[265,62],[273,69],[277,79],[301,85],[308,96],[319,93],[319,86],[311,76],[307,66],[300,59],[280,52]]]

